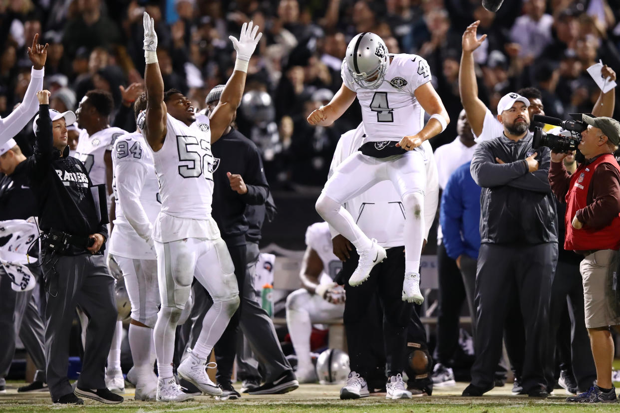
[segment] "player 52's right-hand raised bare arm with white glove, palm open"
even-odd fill
[[[246,89],[247,66],[262,36],[263,33],[259,33],[259,27],[255,26],[254,22],[243,24],[239,40],[234,36],[229,36],[234,50],[237,51],[237,60],[232,76],[226,82],[218,105],[210,116],[211,143],[217,141],[226,131],[241,104],[243,91]]]

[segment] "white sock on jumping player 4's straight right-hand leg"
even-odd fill
[[[406,194],[402,205],[405,208],[405,274],[419,274],[424,243],[424,196],[419,192]]]

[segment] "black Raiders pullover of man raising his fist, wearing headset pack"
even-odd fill
[[[79,237],[100,233],[107,239],[107,227],[95,209],[92,182],[86,168],[78,159],[69,156],[68,146],[62,157],[53,147],[49,108],[49,105],[39,107],[35,154],[25,160],[30,188],[37,200],[39,227],[43,232],[53,228]],[[105,205],[105,199],[102,202]],[[84,251],[73,250],[73,253]]]

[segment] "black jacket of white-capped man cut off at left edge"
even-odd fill
[[[11,175],[0,178],[0,221],[37,216],[27,165],[27,161],[20,162]]]

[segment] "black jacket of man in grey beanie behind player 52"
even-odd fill
[[[244,215],[246,206],[264,204],[269,194],[259,150],[254,142],[236,129],[231,129],[211,144],[211,152],[215,158],[211,215],[226,243],[246,245],[249,229]],[[241,175],[247,186],[246,194],[240,195],[232,190],[227,172]]]

